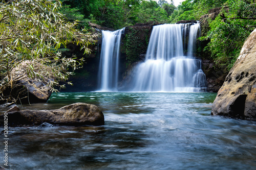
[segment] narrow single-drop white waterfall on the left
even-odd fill
[[[119,48],[124,28],[114,32],[102,31],[98,87],[99,91],[117,91]]]

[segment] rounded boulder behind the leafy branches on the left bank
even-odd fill
[[[46,67],[40,63],[32,63],[32,61],[23,61],[18,66],[14,67],[8,78],[5,78],[6,82],[12,82],[15,84],[13,89],[7,87],[4,92],[4,96],[11,96],[16,99],[19,98],[17,102],[24,103],[42,103],[47,102],[52,94],[52,89],[49,87],[48,83],[53,80],[53,78],[44,77],[41,78],[31,78],[28,76],[29,65],[33,65],[34,71],[40,71],[42,67]],[[4,81],[1,82],[3,85]],[[5,101],[0,101],[4,103]]]

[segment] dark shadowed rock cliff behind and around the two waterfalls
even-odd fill
[[[201,30],[207,30],[207,18],[211,19],[213,16],[217,16],[219,11],[215,10],[212,14],[203,16],[201,20]],[[181,20],[177,23],[196,23],[196,20]],[[126,27],[125,32],[121,37],[121,54],[120,54],[120,72],[119,72],[119,86],[122,86],[124,81],[127,81],[131,77],[131,70],[137,62],[144,61],[147,50],[147,45],[150,40],[153,26],[160,25],[160,23],[137,23],[134,26]],[[103,28],[94,23],[90,23],[90,26],[94,28],[95,32],[100,30],[113,31],[109,28]],[[199,42],[198,46],[203,49],[207,42]],[[72,45],[70,45],[72,47]],[[94,91],[97,90],[97,77],[99,58],[101,52],[101,40],[99,39],[98,44],[92,45],[92,54],[90,56],[82,56],[79,52],[79,47],[72,47],[70,53],[74,53],[80,57],[86,59],[86,63],[82,69],[76,71],[75,76],[71,76],[70,81],[73,82],[74,86],[67,85],[66,89],[61,91]],[[223,84],[227,72],[225,68],[216,68],[214,61],[211,60],[210,54],[200,52],[195,54],[198,58],[202,59],[202,69],[205,72],[207,80],[207,91],[217,92]]]

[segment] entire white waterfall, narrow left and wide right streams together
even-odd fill
[[[99,91],[118,91],[119,48],[124,28],[102,31]],[[195,57],[199,23],[154,26],[145,61],[136,66],[126,91],[200,92],[206,78],[201,60]]]

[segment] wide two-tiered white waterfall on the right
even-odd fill
[[[189,29],[187,55],[185,39]],[[206,87],[201,60],[193,57],[200,24],[154,26],[145,62],[139,64],[132,80],[132,91],[196,92]]]

